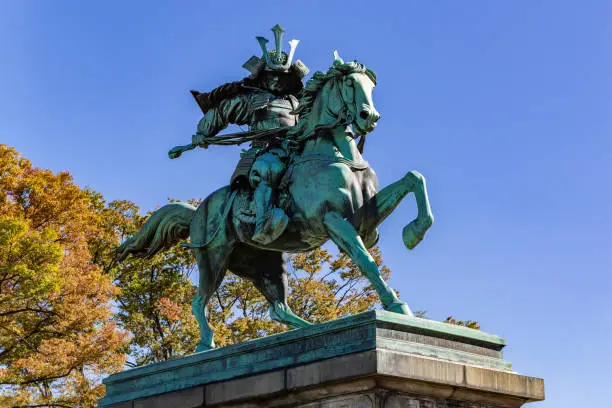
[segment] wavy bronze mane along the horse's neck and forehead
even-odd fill
[[[344,63],[336,62],[327,70],[327,72],[315,72],[312,75],[312,78],[306,82],[306,85],[304,85],[304,88],[299,94],[299,107],[294,111],[294,113],[300,115],[300,120],[296,126],[289,129],[288,136],[295,136],[303,131],[304,126],[308,122],[308,117],[312,113],[314,101],[319,94],[319,91],[323,89],[328,81],[355,73],[366,74],[368,78],[370,78],[372,82],[376,84],[376,73],[357,61],[349,61]]]

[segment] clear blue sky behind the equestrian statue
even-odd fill
[[[291,4],[291,5],[290,5]],[[436,216],[412,252],[408,197],[382,227],[392,285],[431,318],[505,337],[537,407],[607,406],[612,365],[612,3],[12,1],[0,4],[0,142],[143,209],[203,197],[238,157],[169,160],[280,23],[297,57],[376,70],[381,185],[418,169]]]

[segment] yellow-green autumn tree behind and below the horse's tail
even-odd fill
[[[175,246],[149,259],[129,257],[116,261],[114,247],[144,223],[138,207],[125,200],[105,202],[93,197],[100,214],[99,234],[91,245],[92,261],[120,290],[114,297],[115,320],[132,334],[126,352],[128,366],[138,366],[193,352],[199,330],[191,314],[196,286],[190,250]]]

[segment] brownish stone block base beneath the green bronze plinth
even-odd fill
[[[368,351],[140,399],[134,408],[515,408],[544,397],[540,379],[479,368],[470,382],[473,368]]]

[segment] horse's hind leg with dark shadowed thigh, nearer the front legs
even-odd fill
[[[234,251],[229,268],[253,282],[264,295],[272,319],[294,329],[312,325],[293,313],[287,304],[287,266],[282,252],[241,247]]]

